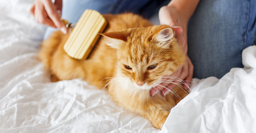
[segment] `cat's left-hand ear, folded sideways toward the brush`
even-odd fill
[[[119,32],[108,32],[105,34],[100,34],[103,37],[103,41],[108,46],[111,46],[113,48],[120,48],[126,43],[126,38],[127,38],[127,32],[126,31],[119,31]]]

